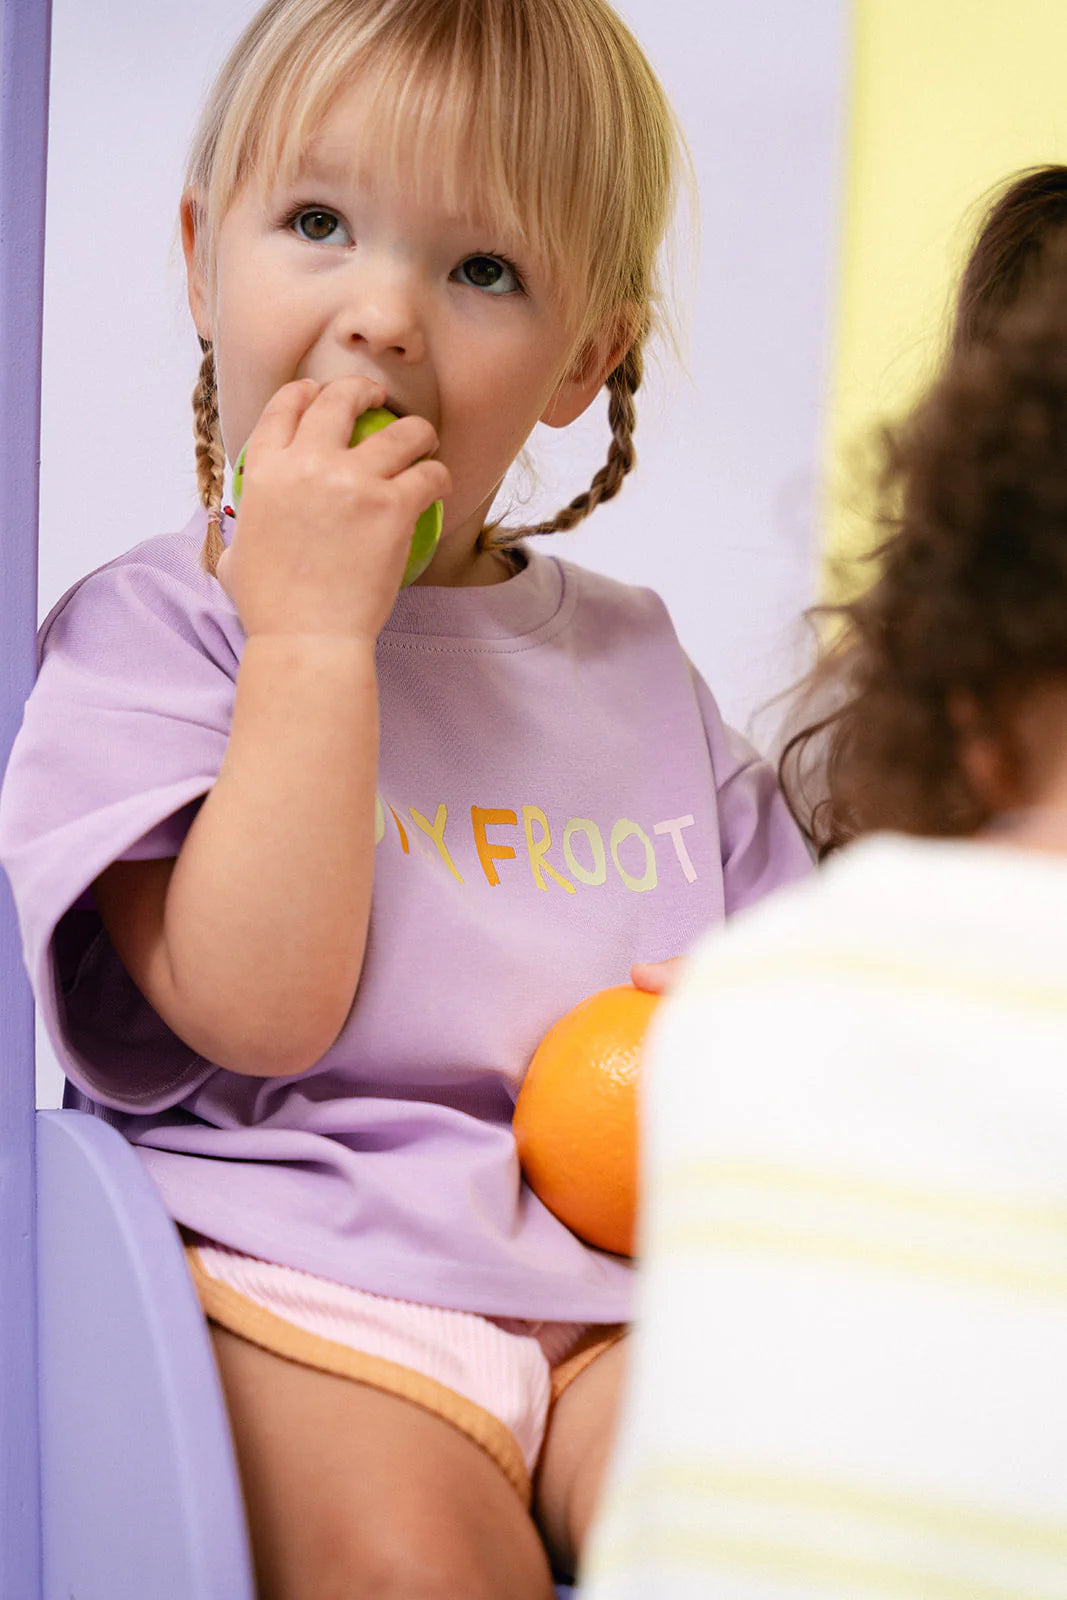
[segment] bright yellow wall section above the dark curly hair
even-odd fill
[[[832,560],[870,538],[848,456],[933,374],[982,195],[1045,162],[1067,162],[1067,0],[854,0]]]

